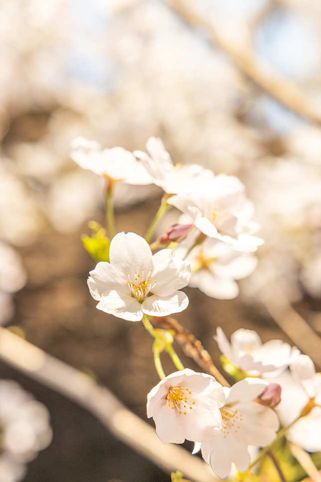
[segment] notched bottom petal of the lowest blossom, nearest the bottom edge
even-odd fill
[[[221,478],[225,478],[231,471],[232,462],[240,472],[246,471],[250,464],[247,445],[231,437],[219,435],[207,444],[201,446],[204,460]]]

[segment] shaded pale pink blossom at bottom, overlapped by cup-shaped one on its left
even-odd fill
[[[201,444],[204,460],[219,477],[229,475],[232,462],[244,472],[250,464],[248,446],[265,447],[275,439],[279,429],[276,413],[254,401],[267,385],[265,380],[245,378],[231,388],[223,387],[226,395],[225,405],[220,408],[223,432]]]

